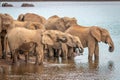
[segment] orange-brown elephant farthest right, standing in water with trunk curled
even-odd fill
[[[96,60],[99,59],[99,45],[98,42],[104,42],[109,45],[109,51],[114,51],[114,43],[110,37],[109,32],[97,26],[84,27],[72,26],[65,31],[71,35],[78,36],[81,40],[83,47],[88,47],[88,59],[92,60],[93,54]]]

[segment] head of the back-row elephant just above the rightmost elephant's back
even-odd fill
[[[73,25],[77,25],[77,20],[75,18],[62,17],[55,22],[55,27],[57,30],[60,30],[62,32]]]

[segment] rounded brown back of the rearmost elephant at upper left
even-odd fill
[[[40,22],[41,24],[46,23],[46,18],[43,16],[37,15],[35,13],[26,13],[20,14],[17,18],[18,21],[32,21],[32,22]]]

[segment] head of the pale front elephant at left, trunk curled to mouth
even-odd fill
[[[42,43],[53,46],[57,42],[67,42],[65,34],[57,30],[46,30],[42,34]]]

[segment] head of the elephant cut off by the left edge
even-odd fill
[[[0,14],[0,32],[12,27],[13,18],[9,14]]]

